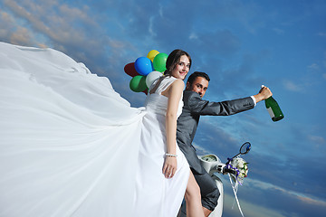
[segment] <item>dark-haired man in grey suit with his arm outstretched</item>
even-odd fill
[[[223,102],[209,102],[202,99],[208,88],[209,77],[205,72],[195,71],[188,80],[183,94],[184,107],[177,119],[177,145],[187,158],[191,171],[195,175],[200,187],[202,205],[205,215],[214,211],[219,197],[219,191],[213,178],[197,157],[192,146],[200,116],[229,116],[248,109],[254,109],[256,102],[272,96],[272,92],[264,87],[258,94],[244,99],[227,100]]]

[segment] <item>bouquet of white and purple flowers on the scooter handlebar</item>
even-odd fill
[[[227,168],[234,169],[237,174],[232,175],[233,181],[239,184],[243,184],[244,178],[248,175],[248,163],[241,157],[235,157],[231,160],[229,164],[226,165]]]

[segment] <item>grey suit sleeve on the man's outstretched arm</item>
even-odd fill
[[[197,92],[192,92],[187,95],[187,99],[184,101],[188,104],[191,113],[201,116],[229,116],[248,109],[254,109],[254,100],[251,97],[210,102],[201,99]]]

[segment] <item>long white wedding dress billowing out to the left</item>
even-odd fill
[[[177,147],[162,174],[160,95],[174,80],[131,108],[62,52],[0,42],[0,216],[176,216],[189,167]]]

